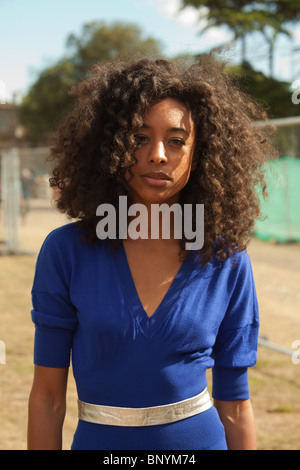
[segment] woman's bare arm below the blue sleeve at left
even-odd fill
[[[28,407],[28,450],[61,450],[68,369],[35,366]]]

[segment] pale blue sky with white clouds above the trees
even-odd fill
[[[189,7],[178,13],[180,0],[0,0],[0,102],[19,100],[46,66],[61,58],[70,33],[80,35],[83,24],[95,20],[124,21],[141,27],[145,37],[164,44],[165,54],[208,52],[232,40],[226,29],[212,28],[199,35],[199,12]],[[300,27],[293,41],[278,45],[275,73],[288,81],[300,79]],[[256,44],[253,44],[256,42]],[[249,59],[266,67],[266,45],[251,39]],[[292,48],[299,48],[291,58]],[[227,55],[240,57],[239,45]],[[299,77],[297,76],[299,73]]]

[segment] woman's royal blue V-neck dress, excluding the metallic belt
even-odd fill
[[[206,267],[192,253],[149,318],[123,246],[112,255],[106,242],[80,241],[75,227],[49,234],[38,256],[32,288],[35,364],[68,367],[72,351],[78,397],[94,404],[148,407],[184,400],[206,387],[208,368],[214,398],[249,398],[247,369],[256,362],[259,319],[246,252]],[[191,445],[226,445],[215,408],[144,430],[80,421],[73,448]]]

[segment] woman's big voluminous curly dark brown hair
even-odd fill
[[[90,243],[97,241],[98,205],[117,208],[120,195],[130,200],[125,173],[135,164],[134,134],[145,112],[175,98],[190,109],[196,129],[197,166],[180,202],[204,204],[201,262],[246,248],[260,213],[257,186],[266,189],[261,167],[273,156],[265,132],[253,124],[266,115],[212,58],[186,62],[139,58],[96,65],[71,90],[74,108],[51,147],[50,185],[59,189],[57,208],[77,219]]]

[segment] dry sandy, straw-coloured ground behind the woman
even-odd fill
[[[47,201],[32,201],[20,228],[21,256],[0,256],[0,340],[6,364],[0,364],[0,450],[26,449],[27,401],[32,382],[33,326],[30,289],[35,254],[53,228],[66,223]],[[249,245],[261,313],[261,334],[286,348],[300,340],[300,245],[253,239]],[[76,426],[76,391],[72,377],[64,427],[69,449]],[[261,450],[300,449],[300,364],[259,347],[250,371],[252,401]]]

